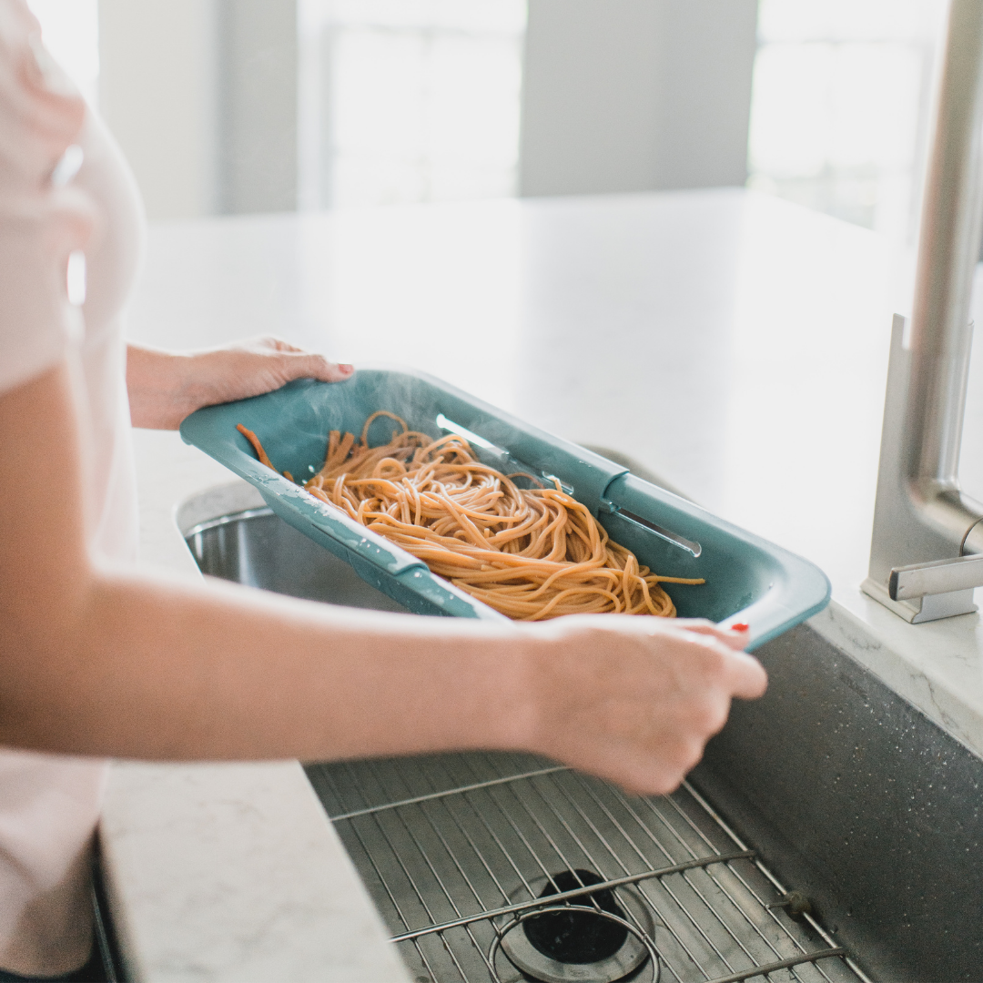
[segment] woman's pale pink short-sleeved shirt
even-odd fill
[[[122,312],[142,249],[136,184],[102,124],[43,51],[23,0],[0,0],[0,393],[62,359],[79,380],[87,440],[87,531],[93,552],[132,560],[137,509],[125,387]],[[41,72],[38,73],[38,64]],[[102,214],[87,249],[87,299],[68,305],[62,259],[31,187],[69,143],[85,162],[74,185]],[[57,260],[57,261],[55,261]],[[0,751],[0,967],[55,975],[85,961],[87,864],[106,764],[90,758]]]

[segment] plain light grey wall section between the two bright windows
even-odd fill
[[[757,0],[529,0],[522,195],[743,184]]]

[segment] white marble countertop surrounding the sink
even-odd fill
[[[722,190],[160,225],[150,232],[130,333],[146,343],[200,347],[272,331],[356,365],[413,365],[545,430],[627,453],[711,511],[818,563],[833,582],[834,603],[814,627],[983,754],[979,616],[909,625],[859,591],[891,315],[896,307],[904,313],[904,303],[904,278],[873,233]],[[971,449],[983,435],[981,375],[983,364],[974,366],[963,464],[970,490],[983,486],[983,455]],[[187,568],[188,554],[168,526],[175,495],[227,473],[174,434],[138,434],[138,449],[145,558]],[[169,478],[158,481],[162,472]],[[295,766],[240,767],[249,778],[234,781],[245,798],[265,801],[275,795],[264,788],[285,774],[276,770]],[[132,882],[134,896],[141,863],[157,850],[144,800],[170,795],[176,785],[188,801],[198,794],[192,785],[207,798],[211,781],[187,768],[117,772],[110,819],[132,809],[145,831],[127,839],[106,824],[111,842],[131,844],[123,881]],[[306,794],[300,783],[291,787],[290,796]],[[199,822],[189,808],[175,821],[184,833]],[[303,822],[314,823],[309,806],[298,808],[308,816]],[[290,809],[270,814],[264,835],[275,840],[278,824],[292,822]],[[235,812],[212,809],[208,822],[237,829]],[[165,830],[165,840],[172,834],[175,844],[183,835]],[[157,884],[145,910],[124,899],[142,978],[247,978],[237,975],[250,962],[243,940],[252,942],[257,930],[248,917],[236,920],[244,905],[235,895],[249,888],[245,879],[221,880],[216,872],[225,863],[209,858],[208,876],[220,887],[208,888],[202,874],[200,895],[179,890],[175,876]],[[285,869],[290,863],[286,856]],[[315,965],[304,917],[309,924],[334,917],[330,899],[340,890],[318,899],[311,888],[309,900],[297,902],[298,911],[308,908],[298,917],[296,946],[289,919],[275,916],[281,920],[260,945],[263,958],[285,947],[293,959],[286,964]],[[191,898],[191,908],[160,900],[174,892]],[[202,919],[202,939],[196,933],[190,945],[179,922],[198,918],[206,898],[214,910]],[[153,914],[155,903],[166,917]],[[380,938],[360,911],[365,931]],[[157,924],[145,928],[151,916]],[[276,977],[313,978],[306,971]]]

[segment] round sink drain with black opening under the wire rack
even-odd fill
[[[603,884],[589,870],[566,870],[531,884],[538,898]],[[527,896],[526,889],[510,900]],[[653,983],[659,978],[659,958],[652,945],[652,918],[644,899],[632,887],[599,891],[508,917],[496,925],[497,949],[525,976],[542,983],[614,983],[653,960]]]

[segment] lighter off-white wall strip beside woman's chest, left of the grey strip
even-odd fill
[[[213,0],[99,0],[99,108],[151,219],[215,209]]]

